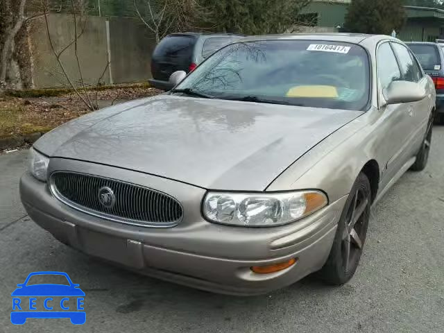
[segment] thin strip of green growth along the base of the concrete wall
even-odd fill
[[[131,85],[99,85],[98,87],[88,87],[88,91],[101,92],[104,90],[113,90],[121,88],[149,88],[149,83],[134,83]],[[78,88],[80,90],[80,88]],[[8,90],[6,96],[18,97],[22,99],[31,99],[39,97],[57,97],[66,94],[72,94],[74,89],[70,88],[48,88],[48,89],[29,89],[29,90]]]

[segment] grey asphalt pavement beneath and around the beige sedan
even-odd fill
[[[308,277],[240,298],[110,266],[60,244],[31,221],[18,194],[26,151],[0,155],[0,332],[444,332],[444,127],[429,164],[373,208],[361,265],[343,287]],[[12,325],[10,293],[33,271],[63,271],[85,291],[85,325]]]

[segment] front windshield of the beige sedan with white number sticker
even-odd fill
[[[176,89],[219,99],[363,110],[369,100],[368,72],[367,53],[355,44],[243,42],[214,53]]]

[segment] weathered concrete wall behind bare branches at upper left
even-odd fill
[[[54,49],[60,52],[74,41],[74,17],[53,14],[49,15],[48,19]],[[83,26],[85,28],[78,38],[77,53],[83,80],[87,85],[96,85],[103,73],[101,83],[105,85],[139,82],[151,77],[151,53],[155,42],[139,22],[124,18],[110,19],[109,44],[107,22],[104,17],[86,17],[86,21],[83,19],[78,22],[78,33],[83,30]],[[51,50],[44,18],[33,20],[30,33],[34,87],[65,86],[67,80]],[[110,51],[110,69],[106,68],[108,51]],[[80,71],[74,44],[62,53],[60,61],[71,80],[79,85]]]

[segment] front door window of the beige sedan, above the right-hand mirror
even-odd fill
[[[401,79],[398,62],[388,43],[382,44],[377,50],[377,75],[382,89],[388,87],[392,81]]]

